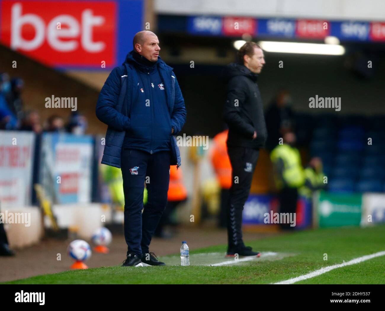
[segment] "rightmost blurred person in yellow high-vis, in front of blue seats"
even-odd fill
[[[313,192],[325,188],[324,177],[322,171],[322,161],[318,157],[313,157],[309,166],[305,168],[305,184],[300,188],[299,194],[306,199],[311,199]]]

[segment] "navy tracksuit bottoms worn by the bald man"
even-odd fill
[[[141,257],[149,252],[151,237],[167,204],[170,163],[170,151],[150,154],[138,149],[122,150],[124,237],[127,255],[134,252]],[[148,197],[142,213],[145,182]]]

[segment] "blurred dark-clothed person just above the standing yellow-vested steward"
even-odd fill
[[[266,111],[266,127],[268,137],[266,149],[273,150],[280,137],[294,130],[294,112],[290,107],[291,96],[288,91],[281,90]]]

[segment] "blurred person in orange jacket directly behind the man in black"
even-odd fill
[[[226,145],[228,133],[229,130],[226,129],[214,136],[210,154],[211,163],[221,187],[221,207],[218,215],[218,226],[221,228],[227,227],[226,209],[231,187],[231,163]]]

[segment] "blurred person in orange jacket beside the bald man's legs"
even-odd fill
[[[170,166],[170,182],[169,190],[167,192],[167,205],[164,210],[161,220],[154,232],[156,237],[168,237],[164,233],[163,228],[166,225],[175,225],[171,221],[170,216],[176,207],[187,199],[187,191],[183,184],[182,170],[179,167],[176,169],[176,165]]]

